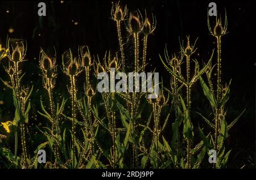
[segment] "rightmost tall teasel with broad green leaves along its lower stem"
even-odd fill
[[[230,83],[224,84],[222,83],[221,76],[221,38],[222,36],[226,35],[228,28],[228,19],[225,12],[225,22],[224,25],[222,25],[221,18],[218,18],[216,16],[216,23],[214,28],[210,26],[209,16],[208,16],[208,29],[210,32],[210,35],[214,36],[217,41],[217,85],[214,88],[213,80],[212,80],[212,72],[214,68],[216,68],[216,64],[212,65],[210,63],[208,65],[207,71],[205,71],[205,74],[207,76],[208,85],[204,82],[203,78],[200,77],[200,83],[201,87],[203,88],[204,95],[208,98],[210,105],[212,107],[213,115],[214,115],[214,124],[210,122],[206,117],[204,117],[203,114],[197,112],[201,117],[204,119],[205,122],[211,127],[211,129],[214,131],[214,138],[211,138],[211,145],[209,145],[210,148],[214,148],[217,155],[217,162],[213,163],[213,168],[221,168],[226,165],[226,162],[228,161],[228,156],[230,151],[225,153],[225,145],[224,141],[228,136],[228,131],[231,127],[234,126],[234,124],[238,121],[238,119],[241,117],[243,112],[238,115],[234,121],[232,121],[229,125],[227,125],[225,116],[227,111],[225,110],[225,104],[229,99],[230,94]],[[213,140],[214,139],[214,140]],[[205,139],[207,141],[207,139]],[[210,144],[210,142],[206,142]]]

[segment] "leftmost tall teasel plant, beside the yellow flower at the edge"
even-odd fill
[[[24,40],[14,40],[7,38],[7,57],[9,58],[9,67],[4,67],[5,71],[10,77],[10,84],[2,82],[13,89],[13,98],[15,106],[15,118],[11,124],[15,127],[15,159],[18,157],[18,128],[20,128],[21,145],[22,145],[22,159],[20,165],[22,168],[31,168],[34,162],[30,162],[28,159],[27,143],[26,143],[26,123],[28,123],[28,113],[30,111],[30,96],[33,87],[25,87],[20,83],[22,77],[20,76],[19,64],[27,61],[25,60],[27,44]]]

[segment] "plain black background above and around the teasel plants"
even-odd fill
[[[41,88],[42,81],[38,76],[39,48],[52,49],[55,46],[57,63],[61,62],[61,53],[68,48],[77,49],[78,45],[88,45],[92,54],[103,57],[106,50],[118,51],[115,23],[110,19],[112,1],[43,1],[46,2],[47,16],[38,16],[38,2],[35,1],[0,1],[0,42],[6,43],[7,35],[27,40],[27,62],[23,69],[26,72],[26,83]],[[190,35],[191,41],[199,37],[195,57],[199,62],[206,62],[210,57],[215,38],[209,35],[207,27],[207,7],[210,1],[122,1],[130,12],[137,9],[147,14],[153,13],[157,19],[154,35],[149,37],[148,57],[152,67],[163,77],[168,87],[168,72],[160,62],[158,54],[163,56],[167,44],[169,54],[179,52],[179,37],[185,40]],[[228,102],[227,121],[231,122],[243,109],[245,114],[230,131],[229,146],[233,149],[231,168],[240,168],[243,164],[254,163],[255,155],[255,3],[249,1],[214,1],[222,17],[225,8],[228,15],[228,34],[222,38],[222,72],[223,80],[232,79],[231,96]],[[6,11],[9,11],[7,13]],[[78,22],[75,25],[75,22]],[[214,18],[210,18],[213,26]],[[9,29],[14,29],[9,33]],[[122,33],[128,36],[125,28]],[[132,54],[132,41],[125,44],[126,54]],[[216,62],[216,55],[214,55]],[[1,78],[6,73],[0,67]],[[59,79],[65,76],[61,71]],[[59,83],[64,83],[59,80]],[[65,88],[65,86],[63,86]],[[197,89],[200,89],[197,90]],[[199,91],[199,92],[197,92]],[[61,92],[61,89],[60,89]],[[56,93],[57,92],[56,90]],[[209,108],[207,100],[201,100],[202,92],[197,83],[192,89],[192,109],[204,112]],[[45,96],[44,91],[37,90],[34,98]],[[10,120],[13,114],[10,91],[0,83],[0,118]],[[193,107],[193,104],[197,106]],[[36,115],[35,115],[36,116]],[[195,116],[195,121],[201,118]],[[3,121],[2,119],[0,119]],[[35,122],[36,123],[36,122]]]

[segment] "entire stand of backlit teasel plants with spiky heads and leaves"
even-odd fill
[[[208,19],[208,27],[211,35],[217,40],[217,85],[214,89],[212,71],[215,65],[213,64],[213,54],[209,61],[200,68],[199,62],[193,58],[196,52],[196,41],[191,43],[189,36],[187,37],[187,44],[184,46],[180,43],[180,54],[168,56],[167,48],[164,50],[164,59],[160,59],[171,74],[171,88],[163,87],[160,89],[159,96],[154,99],[147,100],[152,108],[152,113],[144,119],[141,117],[142,101],[145,100],[146,93],[101,93],[104,101],[104,114],[99,114],[98,106],[92,104],[92,99],[96,96],[96,89],[92,85],[93,74],[100,74],[101,72],[110,73],[111,68],[115,71],[127,71],[128,62],[125,55],[125,46],[122,38],[122,24],[125,25],[127,33],[133,38],[134,45],[134,68],[135,72],[144,71],[147,62],[147,44],[148,36],[155,31],[156,18],[152,15],[152,22],[147,17],[146,12],[143,18],[141,12],[128,13],[127,7],[122,7],[120,3],[113,4],[111,10],[112,19],[117,26],[119,53],[111,54],[106,52],[103,61],[97,56],[94,58],[90,54],[88,46],[79,46],[78,55],[74,56],[71,49],[64,52],[62,55],[61,70],[67,75],[69,85],[67,90],[71,100],[71,117],[68,117],[68,112],[64,112],[64,106],[67,100],[59,104],[53,97],[53,91],[56,86],[57,65],[56,52],[54,55],[48,55],[43,49],[40,50],[39,68],[43,81],[43,87],[48,93],[49,112],[45,109],[41,101],[42,110],[38,111],[42,117],[47,118],[51,127],[44,127],[44,131],[40,130],[46,135],[53,155],[54,162],[47,162],[47,168],[125,168],[127,163],[132,168],[145,168],[152,166],[154,168],[166,168],[172,165],[174,168],[199,168],[201,161],[203,161],[207,149],[216,149],[217,156],[221,160],[226,160],[230,151],[225,152],[224,140],[227,131],[236,123],[236,118],[229,126],[225,121],[225,103],[228,101],[229,85],[222,85],[221,83],[221,37],[226,34],[227,20],[225,16],[224,26],[220,19],[216,19],[216,25],[212,29]],[[141,38],[142,48],[140,46]],[[15,158],[18,158],[18,127],[21,134],[22,156],[20,164],[22,168],[32,168],[36,164],[36,156],[30,158],[27,152],[26,131],[25,126],[28,122],[28,112],[30,110],[29,97],[32,88],[24,87],[20,83],[19,63],[25,61],[26,44],[23,41],[15,41],[7,43],[7,48],[0,46],[0,60],[2,58],[9,58],[9,66],[5,67],[7,74],[9,74],[10,83],[2,80],[7,87],[13,89],[14,104],[16,108],[15,118],[9,124],[14,125],[15,128]],[[140,50],[142,49],[142,57],[140,57]],[[121,58],[120,58],[121,57]],[[128,57],[128,56],[127,56]],[[185,59],[185,72],[181,65]],[[195,70],[191,72],[191,63],[194,63]],[[184,76],[185,74],[185,76]],[[201,76],[207,75],[208,86],[204,83]],[[84,75],[84,93],[81,96],[80,88],[77,85],[77,78]],[[110,73],[111,75],[111,73]],[[111,78],[112,80],[115,77]],[[200,114],[204,121],[212,128],[214,135],[211,132],[204,135],[199,127],[199,133],[203,140],[197,145],[194,142],[194,129],[191,119],[191,88],[193,84],[200,80],[203,87],[204,95],[207,96],[212,106],[214,123],[210,122],[204,115]],[[111,80],[110,80],[110,83]],[[183,100],[183,88],[185,89],[185,101]],[[31,89],[31,90],[30,90]],[[164,92],[168,92],[168,97],[164,96]],[[171,100],[172,101],[171,101]],[[169,102],[170,101],[170,102]],[[124,102],[123,105],[120,102]],[[164,106],[168,103],[174,107],[175,121],[172,123],[172,140],[171,144],[163,136],[163,130],[170,119],[170,112],[162,121],[161,115]],[[167,108],[168,109],[168,108]],[[103,117],[101,117],[103,116]],[[61,119],[68,119],[72,122],[70,137],[71,145],[65,144],[66,129],[61,130]],[[79,121],[79,119],[82,121]],[[117,121],[120,119],[121,122]],[[123,126],[121,126],[121,123]],[[180,137],[180,126],[183,125],[183,139]],[[7,124],[6,124],[7,125]],[[109,133],[111,139],[111,147],[105,149],[103,145],[98,142],[96,136],[98,128],[101,126],[106,133]],[[150,132],[152,136],[148,136],[146,132]],[[83,139],[79,138],[77,133],[82,132]],[[161,138],[162,136],[162,138]],[[121,138],[123,137],[123,138]],[[5,136],[0,135],[0,140]],[[209,140],[210,139],[210,140]],[[185,147],[184,147],[184,143]],[[148,143],[149,142],[149,143]],[[44,145],[46,145],[44,144]],[[129,148],[129,144],[130,147]],[[41,146],[43,147],[43,146]],[[185,149],[185,153],[183,150]],[[100,157],[108,160],[108,165],[103,165]],[[184,156],[185,155],[185,156]],[[196,156],[197,155],[197,156]],[[125,160],[126,157],[131,157]],[[185,162],[185,163],[184,163]],[[125,165],[126,163],[126,165]],[[221,162],[213,164],[213,168],[220,168]],[[224,164],[224,162],[223,162]]]

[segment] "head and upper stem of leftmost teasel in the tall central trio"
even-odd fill
[[[117,24],[117,35],[118,35],[118,42],[119,42],[119,48],[121,52],[121,59],[122,59],[122,71],[125,72],[125,53],[123,50],[123,40],[122,40],[122,33],[121,33],[121,23],[126,20],[126,16],[128,14],[127,6],[121,7],[119,5],[120,1],[117,3],[113,3],[112,10],[111,10],[111,16],[112,19]]]

